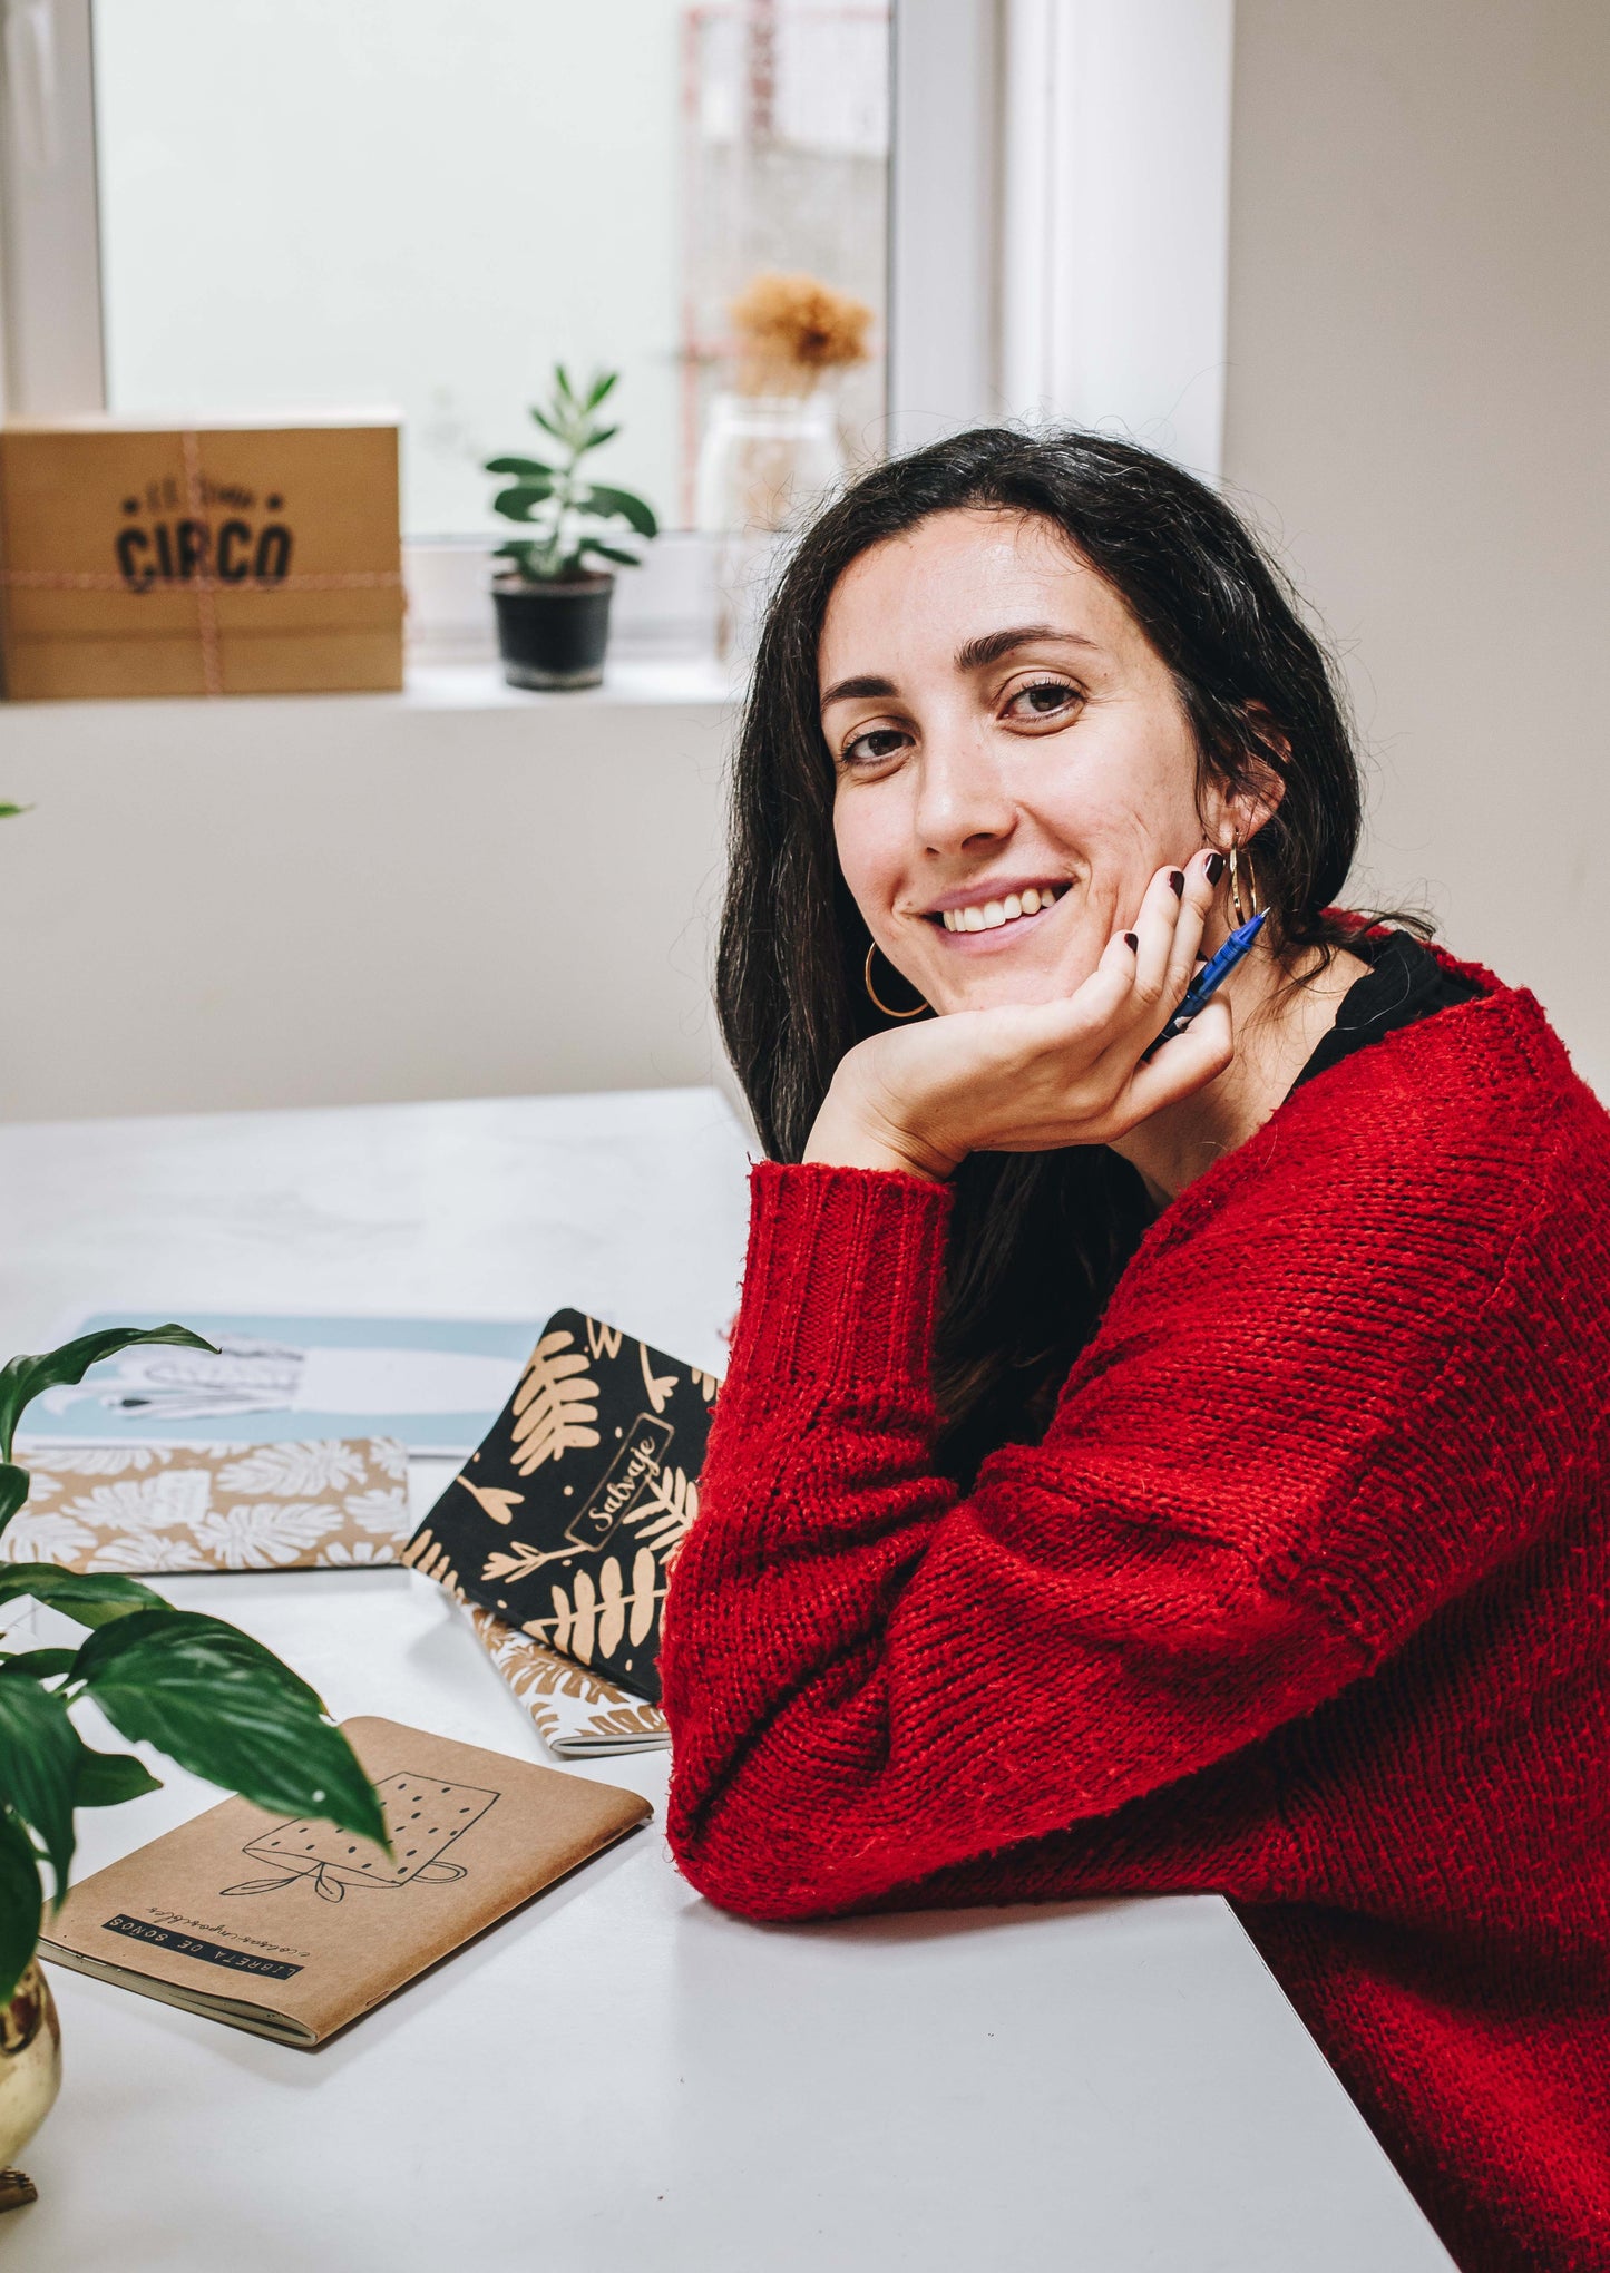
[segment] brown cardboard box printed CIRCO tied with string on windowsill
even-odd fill
[[[0,427],[11,700],[402,684],[396,418]]]

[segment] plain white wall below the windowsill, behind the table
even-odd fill
[[[7,705],[0,1118],[712,1080],[723,734],[594,696]]]

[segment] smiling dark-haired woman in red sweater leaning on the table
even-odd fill
[[[1317,643],[1144,450],[964,434],[807,534],[671,1837],[757,1918],[1221,1891],[1467,2273],[1603,2268],[1610,1125],[1330,907],[1358,827]]]

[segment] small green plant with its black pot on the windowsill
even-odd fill
[[[548,402],[532,405],[532,418],[555,448],[546,457],[487,459],[487,473],[514,477],[491,509],[534,532],[493,552],[509,564],[491,586],[509,686],[598,686],[614,568],[637,568],[641,555],[630,550],[630,539],[659,530],[637,491],[582,475],[582,459],[621,432],[598,421],[616,377],[616,370],[600,370],[578,393],[564,364],[555,364]]]

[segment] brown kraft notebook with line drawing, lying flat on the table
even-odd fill
[[[393,1855],[225,1800],[73,1887],[41,1955],[312,2048],[614,1846],[648,1800],[396,1721],[346,1721]]]

